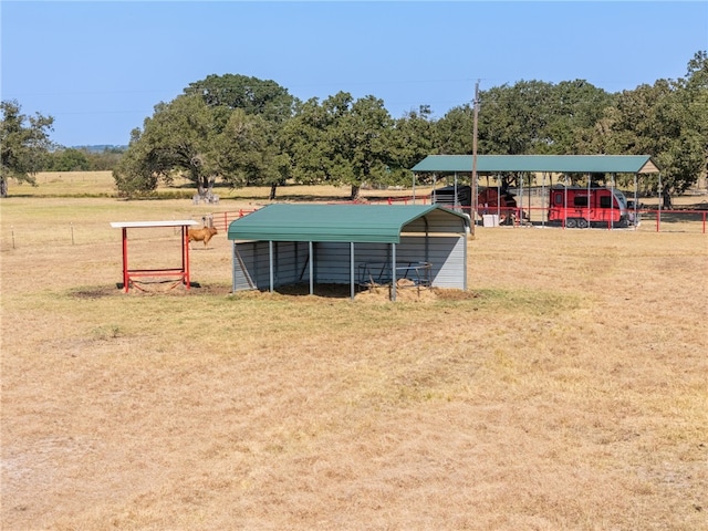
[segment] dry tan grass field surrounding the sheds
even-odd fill
[[[3,530],[708,530],[708,236],[478,228],[468,292],[391,303],[232,295],[220,232],[125,294],[110,221],[262,197],[97,180],[0,202]]]

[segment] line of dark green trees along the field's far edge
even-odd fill
[[[685,77],[633,91],[607,93],[583,80],[520,81],[480,91],[478,104],[479,154],[650,155],[674,194],[694,186],[708,167],[705,51],[688,62]],[[23,169],[31,176],[31,165],[19,164],[22,156],[9,156],[6,165],[6,134],[27,117],[17,102],[2,105],[2,181]],[[409,168],[427,155],[470,154],[473,114],[470,102],[437,119],[428,105],[394,118],[373,95],[354,98],[342,91],[300,101],[271,80],[215,74],[158,103],[113,160],[113,176],[126,197],[186,178],[204,196],[220,184],[269,186],[275,198],[279,186],[298,183],[350,186],[357,199],[364,185],[407,185]],[[51,117],[29,119],[20,129],[46,136]],[[21,155],[22,140],[10,144],[8,152]],[[69,152],[64,162],[80,158]]]

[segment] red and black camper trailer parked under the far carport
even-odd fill
[[[634,216],[616,188],[554,187],[549,198],[549,223],[579,227],[628,227]]]

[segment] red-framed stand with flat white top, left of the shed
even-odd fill
[[[123,289],[128,292],[131,281],[145,277],[176,277],[189,289],[189,227],[198,225],[191,219],[171,221],[112,221],[111,227],[123,231]],[[178,268],[131,269],[128,267],[128,229],[178,227],[181,230],[181,266]]]

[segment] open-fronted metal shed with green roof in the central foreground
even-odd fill
[[[270,205],[229,225],[232,289],[396,281],[467,289],[469,217],[437,205]]]

